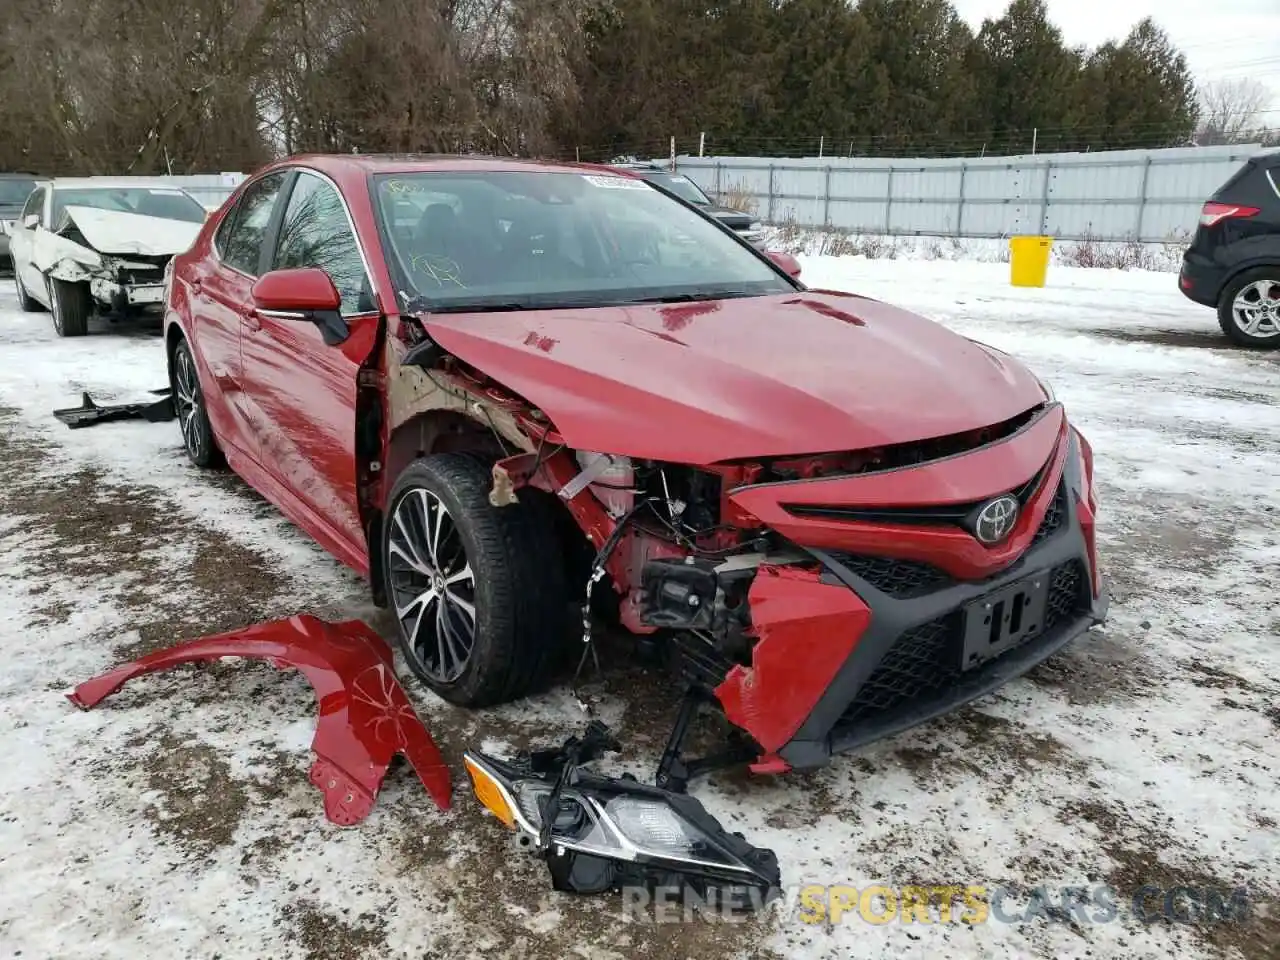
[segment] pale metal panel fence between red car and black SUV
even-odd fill
[[[931,237],[1175,241],[1260,145],[974,159],[696,157],[704,191],[755,198],[762,220]]]

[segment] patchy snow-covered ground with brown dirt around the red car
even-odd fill
[[[355,829],[306,782],[314,704],[291,672],[216,664],[96,710],[61,692],[179,636],[312,611],[367,616],[357,579],[173,424],[68,431],[81,389],[164,381],[160,340],[58,340],[0,292],[0,943],[22,956],[1261,957],[1280,891],[1280,353],[1229,348],[1158,273],[806,257],[804,279],[936,317],[1028,361],[1092,439],[1112,618],[1027,678],[829,768],[695,794],[799,884],[984,884],[986,923],[626,920],[553,895],[461,782],[435,810],[403,768]],[[579,728],[563,690],[479,713],[407,684],[452,760]],[[614,668],[607,719],[652,769],[673,703]],[[1032,892],[1106,884],[1027,918]],[[1143,923],[1146,884],[1229,893],[1252,919]],[[856,895],[855,895],[856,900]],[[1160,910],[1161,896],[1148,899]],[[1185,906],[1183,900],[1179,905]],[[957,911],[959,913],[959,911]]]

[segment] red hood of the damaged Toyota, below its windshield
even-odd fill
[[[425,317],[576,449],[681,463],[823,453],[991,426],[1044,399],[1016,361],[863,297]]]

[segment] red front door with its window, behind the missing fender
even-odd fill
[[[244,393],[262,466],[329,534],[325,547],[367,570],[356,495],[356,376],[378,337],[379,312],[338,188],[300,170],[262,269],[315,266],[342,293],[351,335],[328,346],[307,320],[257,315],[241,340]],[[325,538],[319,536],[324,540]]]

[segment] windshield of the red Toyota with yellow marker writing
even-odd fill
[[[721,300],[795,289],[769,261],[640,179],[579,173],[374,178],[392,270],[443,310]]]

